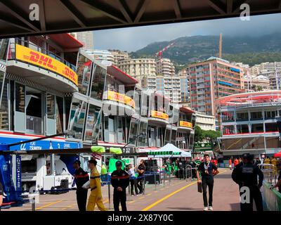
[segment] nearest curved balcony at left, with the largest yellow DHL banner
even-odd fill
[[[30,46],[27,48],[25,46]],[[27,41],[10,44],[7,72],[61,92],[78,91],[76,68],[63,58]]]

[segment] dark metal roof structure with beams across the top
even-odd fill
[[[0,0],[0,38],[230,18],[242,4],[281,12],[280,0]]]

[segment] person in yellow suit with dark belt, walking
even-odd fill
[[[91,169],[90,188],[91,195],[88,200],[87,211],[95,210],[95,205],[98,205],[100,211],[107,211],[103,205],[103,197],[101,195],[100,174],[96,169],[97,161],[89,160],[89,168]]]

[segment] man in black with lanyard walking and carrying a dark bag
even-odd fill
[[[200,174],[202,180],[200,179]],[[213,210],[213,188],[214,188],[214,176],[218,174],[218,167],[210,162],[210,157],[208,154],[204,154],[204,162],[201,162],[197,169],[197,182],[202,183],[203,189],[203,201],[204,201],[204,211]],[[207,200],[207,186],[209,189],[209,207]]]

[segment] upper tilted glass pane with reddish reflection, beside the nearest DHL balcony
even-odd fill
[[[77,62],[78,88],[81,94],[87,94],[91,78],[91,66],[93,62],[79,53]]]

